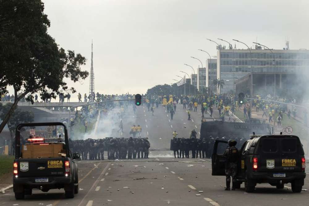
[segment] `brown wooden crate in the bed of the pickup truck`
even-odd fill
[[[30,143],[22,146],[22,158],[59,158],[65,153],[64,143]]]

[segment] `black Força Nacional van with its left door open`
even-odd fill
[[[212,154],[212,175],[225,176],[224,150],[227,141],[217,140]],[[239,150],[237,184],[244,182],[246,192],[257,183],[269,183],[282,189],[291,183],[293,192],[301,192],[306,177],[303,145],[294,135],[262,135],[252,137]]]

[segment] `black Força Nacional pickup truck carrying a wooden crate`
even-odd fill
[[[61,137],[55,138],[59,135],[57,128],[62,128],[58,131],[64,134],[64,142]],[[28,135],[27,130],[32,133],[30,138],[21,141],[21,132],[23,136]],[[36,136],[34,132],[40,135]],[[66,198],[74,198],[78,193],[78,158],[79,154],[70,152],[67,129],[61,122],[19,124],[15,133],[13,163],[16,200],[32,195],[32,189],[47,192],[64,188]]]

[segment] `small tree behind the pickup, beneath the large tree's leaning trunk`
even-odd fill
[[[12,107],[12,103],[7,103],[4,106],[0,104],[0,119],[4,119],[8,111]],[[21,123],[29,123],[34,121],[34,114],[32,111],[21,111],[18,107],[11,114],[11,118],[7,121],[7,126],[11,135],[11,146],[13,143],[13,137],[15,136],[15,129]],[[11,150],[12,151],[12,150]]]

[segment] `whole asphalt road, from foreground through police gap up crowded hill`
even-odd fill
[[[214,114],[218,117],[218,111]],[[152,148],[169,148],[174,130],[178,137],[189,137],[192,129],[200,131],[200,110],[191,112],[193,121],[188,120],[181,105],[177,106],[173,120],[163,107],[152,116],[146,107],[140,106],[135,116],[138,118],[124,121],[122,135],[129,135],[133,122],[140,124],[142,137],[149,137]],[[47,193],[34,190],[25,200],[15,200],[9,189],[0,194],[0,206],[307,205],[309,200],[309,191],[293,193],[290,184],[284,189],[258,184],[254,193],[246,193],[243,184],[239,190],[224,191],[225,176],[211,176],[210,159],[174,158],[171,151],[151,151],[149,157],[132,161],[81,161],[79,193],[74,199],[65,199],[64,190],[55,189]],[[303,188],[307,188],[308,181],[305,179]]]

